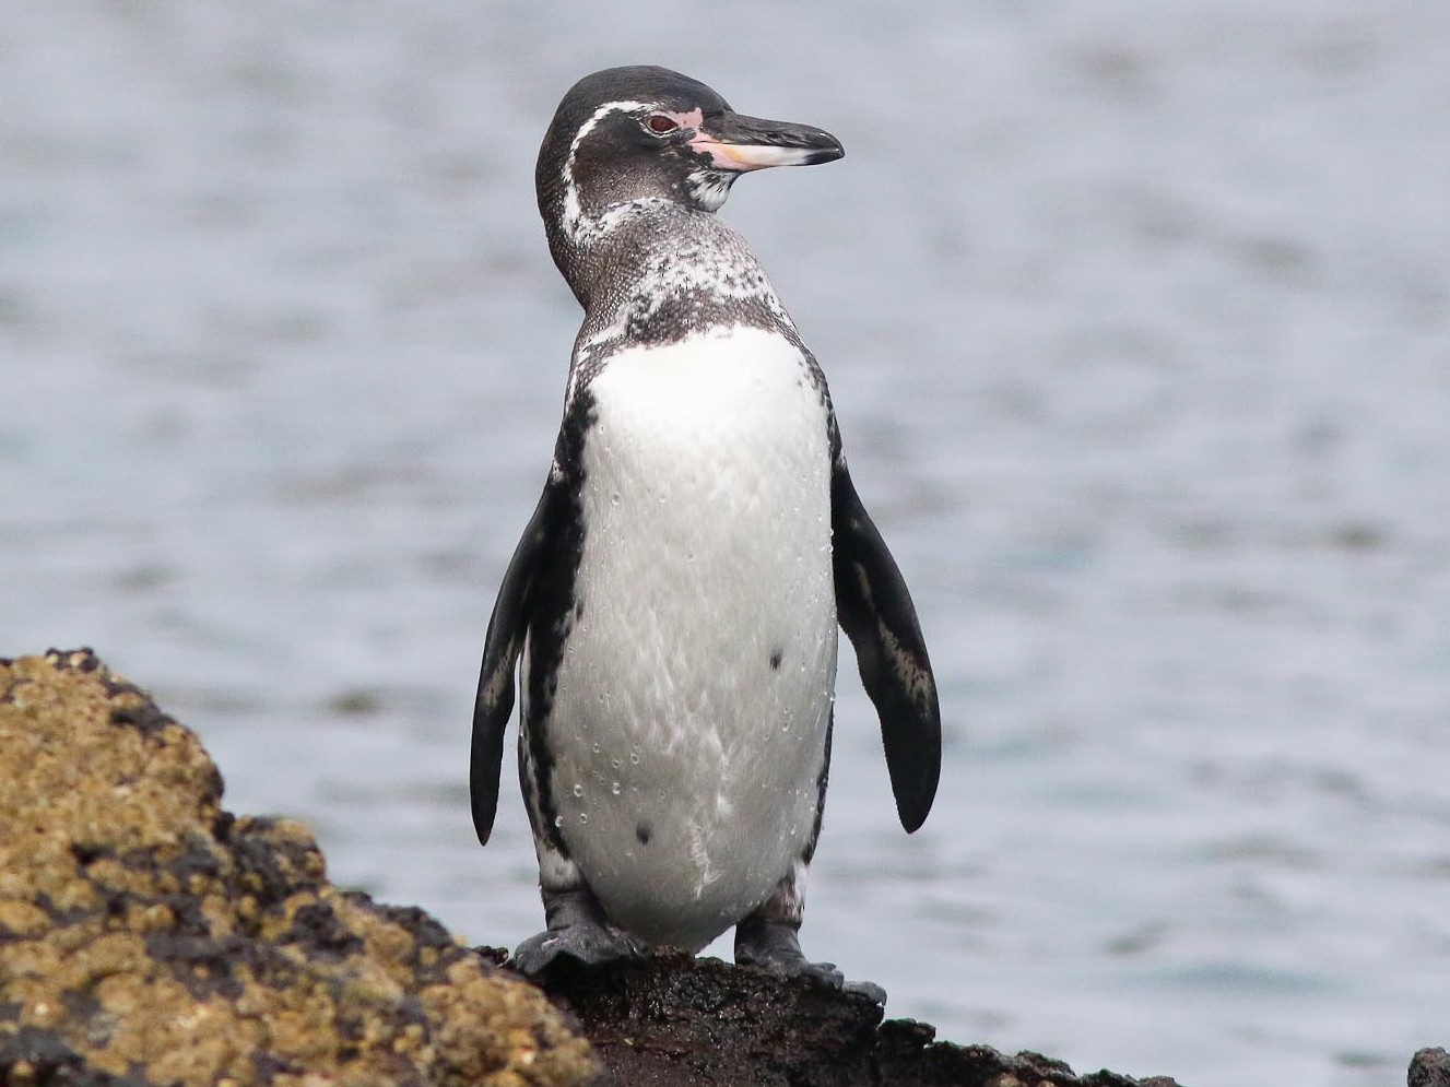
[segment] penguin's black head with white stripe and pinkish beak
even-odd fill
[[[587,248],[609,232],[612,212],[642,201],[715,212],[747,171],[842,154],[831,133],[735,113],[689,75],[606,68],[564,96],[539,148],[535,186],[550,241]]]

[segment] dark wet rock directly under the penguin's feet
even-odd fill
[[[592,970],[555,961],[542,984],[629,1087],[1176,1087],[935,1042],[925,1023],[883,1023],[864,996],[684,954]]]

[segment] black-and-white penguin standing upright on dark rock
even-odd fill
[[[931,809],[941,723],[911,594],[821,367],[715,215],[744,172],[842,154],[658,67],[584,77],[544,138],[539,213],[584,320],[489,623],[470,762],[487,844],[518,672],[547,922],[513,952],[523,974],[695,954],[734,926],[737,962],[844,984],[798,935],[838,625],[906,832]]]

